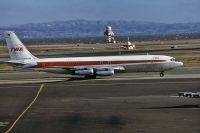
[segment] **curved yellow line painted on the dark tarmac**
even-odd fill
[[[15,122],[12,124],[12,126],[5,132],[5,133],[9,133],[17,124],[17,122],[21,119],[21,117],[28,111],[28,109],[35,103],[35,101],[37,100],[37,98],[39,97],[42,89],[44,88],[44,84],[41,84],[37,95],[35,96],[35,98],[33,99],[33,101],[29,104],[29,106],[18,116],[18,118],[15,120]]]

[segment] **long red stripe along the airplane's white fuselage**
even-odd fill
[[[151,62],[164,62],[165,60],[135,60],[135,61],[49,61],[37,62],[37,68],[41,67],[73,67],[73,66],[93,66],[93,65],[115,65],[115,64],[139,64]]]

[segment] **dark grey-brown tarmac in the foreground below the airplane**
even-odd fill
[[[200,132],[200,99],[176,96],[200,91],[199,74],[95,80],[29,74],[2,74],[9,78],[0,79],[0,132]]]

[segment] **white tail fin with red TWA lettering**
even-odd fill
[[[33,56],[23,43],[19,40],[13,31],[5,31],[4,37],[6,39],[7,47],[11,60],[35,60]]]

